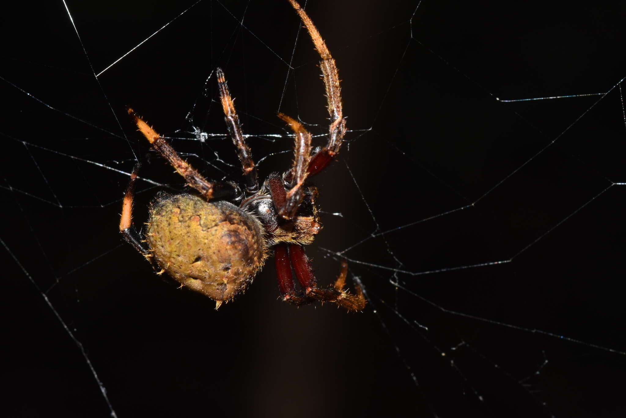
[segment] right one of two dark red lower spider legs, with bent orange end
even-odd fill
[[[315,276],[302,246],[289,244],[289,258],[307,298],[322,302],[334,302],[349,311],[361,311],[365,308],[367,302],[359,286],[356,286],[356,295],[342,290],[346,280],[347,263],[342,264],[342,272],[339,274],[335,285],[321,289],[316,286]]]

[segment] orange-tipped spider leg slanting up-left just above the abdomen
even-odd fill
[[[172,148],[172,145],[156,131],[148,125],[143,119],[141,119],[133,109],[128,108],[128,114],[135,120],[135,124],[139,128],[143,136],[146,137],[148,142],[153,145],[154,149],[167,159],[170,165],[182,175],[187,182],[187,185],[196,189],[205,199],[225,198],[236,200],[241,196],[239,186],[230,182],[210,182],[198,170],[194,169],[187,161],[180,158],[176,150]]]

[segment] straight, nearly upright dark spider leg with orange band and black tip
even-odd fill
[[[254,193],[259,190],[259,178],[257,177],[257,167],[252,160],[252,151],[250,151],[250,147],[245,143],[244,135],[241,133],[239,116],[235,111],[235,103],[233,103],[232,97],[230,97],[230,91],[228,90],[228,84],[224,78],[222,68],[217,68],[215,72],[217,73],[217,84],[220,88],[220,100],[222,101],[226,127],[228,128],[230,138],[233,140],[233,144],[237,147],[237,155],[244,169],[246,188],[248,192]]]

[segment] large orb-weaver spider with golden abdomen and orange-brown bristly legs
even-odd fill
[[[244,172],[241,185],[206,180],[129,108],[128,113],[140,132],[199,196],[157,194],[150,206],[145,236],[142,236],[132,223],[137,164],[123,199],[120,233],[150,261],[155,271],[158,270],[157,274],[167,273],[181,286],[212,298],[216,302],[215,309],[245,291],[273,248],[282,300],[294,305],[334,302],[347,310],[359,311],[365,307],[366,300],[359,286],[356,286],[356,295],[344,290],[347,263],[342,263],[334,285],[319,288],[302,247],[312,243],[322,228],[316,207],[317,188],[308,184],[307,179],[327,167],[339,152],[346,133],[346,120],[335,61],[307,13],[295,0],[289,2],[321,57],[319,66],[332,120],[326,147],[312,155],[310,133],[301,123],[279,113],[294,132],[294,163],[290,170],[272,173],[259,185],[252,152],[242,135],[224,73],[217,68],[228,133],[237,147]],[[292,269],[300,283],[300,292],[295,290]]]

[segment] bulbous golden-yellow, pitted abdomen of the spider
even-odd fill
[[[267,257],[252,214],[190,194],[156,197],[146,241],[160,268],[218,305],[245,290]]]

